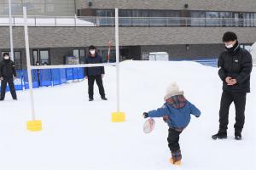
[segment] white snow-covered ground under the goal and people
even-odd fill
[[[235,107],[230,107],[228,139],[212,140],[218,131],[222,83],[218,68],[188,61],[125,61],[120,64],[120,107],[126,122],[111,122],[116,111],[115,67],[105,67],[102,101],[88,101],[87,82],[38,88],[35,107],[43,131],[26,131],[31,120],[28,91],[18,101],[8,93],[0,102],[1,170],[235,170],[256,169],[256,70],[247,94],[243,139],[234,139]],[[169,163],[168,127],[155,119],[152,133],[143,133],[143,111],[163,105],[166,86],[177,82],[185,97],[201,110],[180,136],[182,165]]]

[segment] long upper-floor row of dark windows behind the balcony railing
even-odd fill
[[[114,26],[114,10],[96,10],[98,26]],[[255,13],[120,9],[119,26],[256,26]]]

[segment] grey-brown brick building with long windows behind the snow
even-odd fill
[[[7,0],[0,2],[0,14],[6,15]],[[167,52],[170,59],[217,58],[224,49],[225,31],[235,31],[242,48],[249,48],[256,42],[255,0],[16,1],[19,2],[19,8],[13,8],[15,15],[21,14],[20,8],[26,5],[31,17],[43,15],[55,19],[52,25],[29,26],[32,64],[36,61],[65,64],[68,56],[77,56],[83,63],[90,44],[96,45],[105,59],[108,42],[114,45],[114,8],[119,8],[121,59],[148,59],[150,52]],[[60,4],[63,8],[59,8]],[[58,21],[61,19],[56,16],[74,22],[61,25]],[[49,24],[51,19],[48,19]],[[34,17],[34,23],[39,21],[39,17]],[[79,25],[82,21],[90,26]],[[22,26],[13,29],[15,61],[25,67],[24,29]],[[1,26],[0,21],[0,52],[6,51],[9,51],[9,27]]]

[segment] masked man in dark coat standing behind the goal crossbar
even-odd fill
[[[85,64],[96,64],[102,63],[102,57],[96,53],[96,47],[90,46],[89,47],[89,55],[85,59]],[[97,67],[85,67],[85,79],[88,79],[88,94],[89,94],[89,101],[93,100],[93,87],[94,82],[99,88],[99,93],[103,100],[108,100],[105,97],[105,90],[103,87],[102,77],[104,77],[105,71],[103,66]]]

